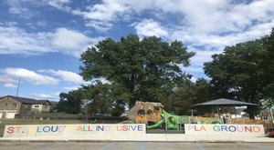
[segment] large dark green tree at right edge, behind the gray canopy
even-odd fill
[[[258,103],[274,98],[274,28],[270,35],[254,41],[227,46],[223,54],[205,63],[205,74],[212,78],[216,97]],[[248,107],[253,116],[256,109]]]

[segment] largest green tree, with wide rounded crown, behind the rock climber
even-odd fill
[[[193,55],[182,42],[169,44],[155,36],[107,38],[81,55],[80,75],[87,81],[107,79],[120,89],[117,95],[128,95],[123,101],[130,107],[137,100],[164,103],[174,87],[188,80],[179,65],[190,65]]]

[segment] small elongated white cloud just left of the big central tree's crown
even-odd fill
[[[70,83],[75,83],[75,84],[86,84],[87,82],[85,82],[82,78],[82,76],[73,73],[73,72],[69,72],[69,71],[65,71],[65,70],[39,70],[40,73],[49,73],[51,75],[57,75],[60,76],[62,78],[62,80],[66,81],[66,82],[70,82]]]

